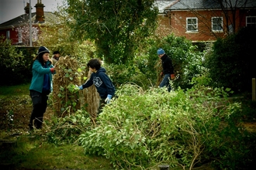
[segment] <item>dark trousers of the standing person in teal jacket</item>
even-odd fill
[[[47,110],[47,100],[49,93],[40,93],[35,90],[30,90],[30,97],[33,103],[33,110],[29,120],[29,128],[33,129],[33,126],[37,129],[42,128],[43,114]]]

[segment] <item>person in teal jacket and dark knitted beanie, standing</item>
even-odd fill
[[[48,94],[53,90],[52,74],[54,66],[49,60],[50,51],[40,46],[38,54],[33,61],[32,80],[29,87],[33,110],[29,120],[29,130],[42,128],[43,114],[47,110]]]

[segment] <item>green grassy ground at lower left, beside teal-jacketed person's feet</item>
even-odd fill
[[[15,118],[16,113],[26,116],[21,117],[27,121],[30,110],[21,112],[29,102],[29,85],[0,87],[0,114],[4,115],[5,107],[11,107]],[[26,97],[24,96],[26,95]],[[24,105],[25,104],[25,105]],[[31,107],[31,106],[29,106]],[[0,169],[113,169],[107,158],[96,155],[85,155],[84,148],[80,145],[56,146],[45,140],[43,134],[34,132],[28,134],[27,127],[19,130],[3,128],[0,117]],[[22,120],[18,120],[19,126]],[[27,125],[27,124],[25,124]],[[13,136],[12,134],[18,133]],[[6,145],[5,141],[17,141],[16,145]]]

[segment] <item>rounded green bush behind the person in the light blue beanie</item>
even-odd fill
[[[175,67],[176,80],[173,81],[175,89],[190,88],[192,77],[200,76],[204,72],[202,66],[202,53],[199,52],[192,42],[185,37],[170,35],[164,39],[150,41],[150,49],[147,53],[147,69],[156,70],[158,56],[157,49],[162,48],[164,52],[171,57],[173,66]],[[154,73],[154,75],[152,74]],[[151,72],[150,77],[156,81],[159,73]]]

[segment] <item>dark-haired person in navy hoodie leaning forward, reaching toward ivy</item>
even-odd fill
[[[99,59],[90,59],[87,66],[89,70],[92,71],[92,75],[88,81],[79,87],[79,89],[83,90],[84,88],[91,87],[92,84],[95,85],[97,92],[101,97],[98,109],[98,114],[100,114],[102,107],[104,107],[105,104],[109,104],[112,97],[114,97],[116,89],[109,79],[109,76],[106,74],[106,69],[101,66]]]

